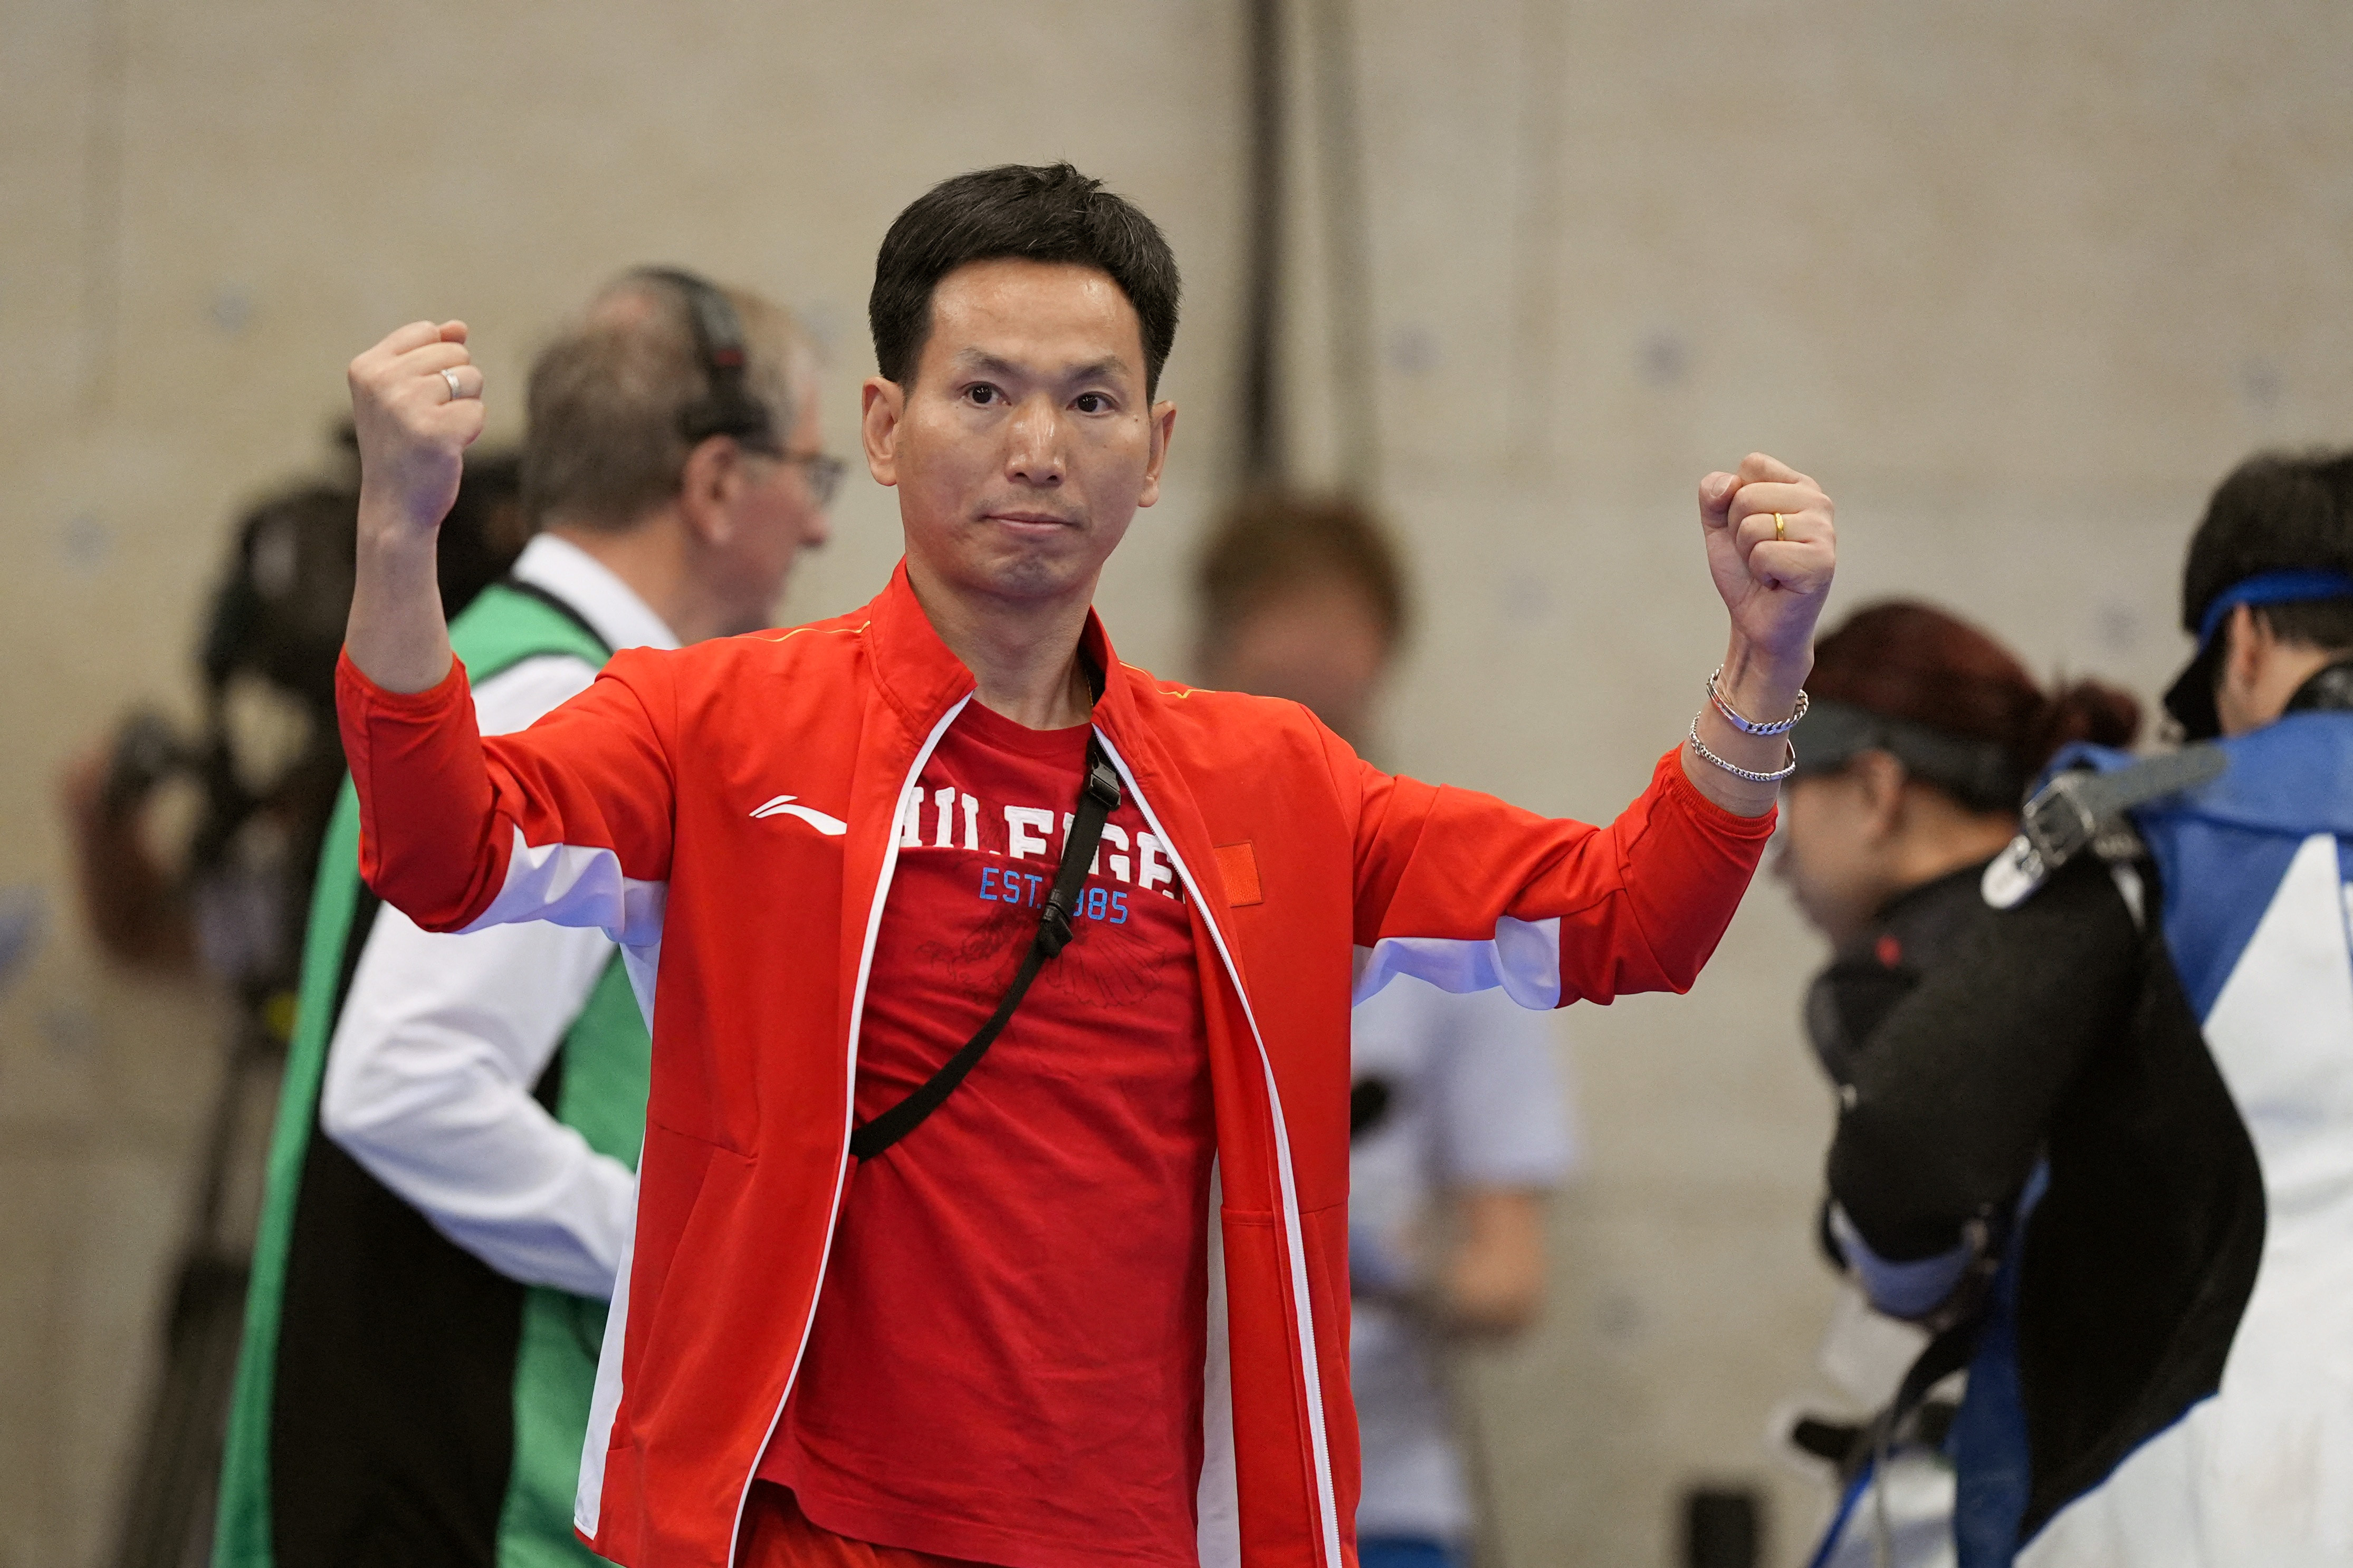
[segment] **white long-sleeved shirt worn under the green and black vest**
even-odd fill
[[[612,649],[678,637],[628,583],[551,534],[515,578],[576,609]],[[473,689],[485,736],[525,729],[588,689],[584,658],[527,658]],[[438,1232],[522,1284],[609,1298],[635,1178],[532,1098],[614,943],[553,924],[471,936],[376,910],[327,1048],[320,1126]]]

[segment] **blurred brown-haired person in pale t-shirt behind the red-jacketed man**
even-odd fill
[[[1304,703],[1360,752],[1405,642],[1398,552],[1344,498],[1257,491],[1198,567],[1205,686]],[[1395,978],[1355,1009],[1348,1140],[1351,1382],[1362,1568],[1457,1568],[1480,1521],[1447,1340],[1544,1305],[1544,1199],[1579,1164],[1551,1016],[1501,990]]]

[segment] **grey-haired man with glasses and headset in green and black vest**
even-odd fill
[[[447,376],[447,397],[480,393]],[[793,317],[631,273],[536,360],[536,536],[452,625],[482,733],[619,649],[769,625],[826,538],[814,355]],[[320,860],[216,1563],[593,1563],[572,1488],[645,1135],[647,1023],[609,936],[431,936]]]

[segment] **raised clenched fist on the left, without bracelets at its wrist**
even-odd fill
[[[482,435],[482,371],[466,322],[409,322],[351,362],[360,440],[360,529],[431,538],[456,503],[466,447]]]

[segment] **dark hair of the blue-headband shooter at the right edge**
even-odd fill
[[[2221,482],[2181,567],[2181,630],[2198,635],[2207,607],[2264,571],[2353,576],[2353,451],[2264,451]],[[2353,599],[2264,604],[2254,611],[2282,642],[2353,646]]]

